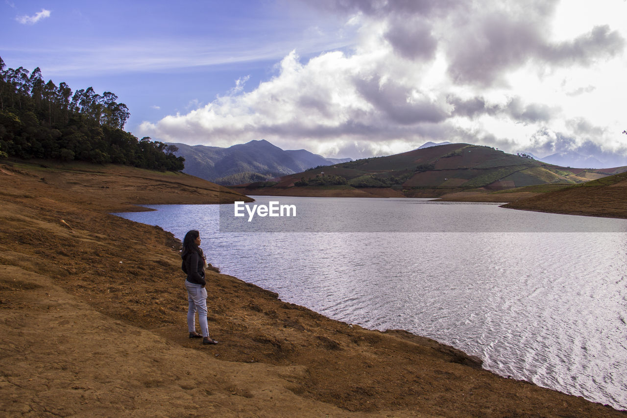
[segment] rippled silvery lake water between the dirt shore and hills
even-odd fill
[[[627,220],[490,203],[253,196],[119,214],[181,238],[198,229],[222,272],[366,328],[401,328],[483,367],[627,409]]]

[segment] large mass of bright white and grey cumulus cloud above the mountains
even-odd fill
[[[245,91],[248,78],[240,78],[213,102],[144,122],[140,132],[215,146],[263,138],[284,149],[353,158],[408,151],[426,141],[512,152],[524,142],[546,154],[602,143],[609,135],[594,132],[584,119],[563,121],[562,100],[594,93],[589,82],[569,82],[567,91],[543,83],[547,74],[616,58],[624,38],[608,25],[554,37],[557,0],[303,2],[359,25],[355,48],[307,61],[292,51],[252,90]]]

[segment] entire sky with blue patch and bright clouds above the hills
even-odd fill
[[[164,142],[330,158],[468,142],[627,165],[626,0],[19,1],[0,57]]]

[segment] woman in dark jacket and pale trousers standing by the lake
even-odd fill
[[[207,326],[207,289],[204,281],[205,259],[203,250],[200,249],[200,233],[191,230],[183,238],[183,259],[182,269],[187,273],[185,287],[187,288],[187,330],[189,338],[203,337],[203,344],[218,344],[218,341],[209,338],[209,328]],[[203,335],[196,332],[196,312],[198,311],[198,322]]]

